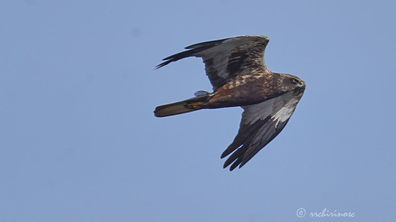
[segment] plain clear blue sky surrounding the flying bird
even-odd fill
[[[390,221],[396,199],[395,4],[0,2],[1,221]],[[184,47],[270,38],[305,94],[241,169],[221,153],[239,107],[154,117],[211,90]],[[297,217],[297,209],[307,215]],[[308,214],[353,212],[354,218]]]

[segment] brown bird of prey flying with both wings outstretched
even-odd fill
[[[303,96],[305,82],[294,75],[273,73],[264,61],[266,36],[236,36],[185,47],[187,51],[164,58],[160,68],[182,58],[201,57],[213,92],[198,91],[194,98],[160,105],[156,117],[200,109],[240,106],[244,109],[234,141],[221,154],[231,154],[223,168],[244,166],[282,129]]]

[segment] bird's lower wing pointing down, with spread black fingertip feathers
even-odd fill
[[[234,141],[221,154],[224,158],[231,152],[224,163],[224,168],[234,162],[230,171],[238,165],[244,166],[257,152],[278,135],[303,96],[303,90],[287,92],[255,105],[242,107],[242,120]],[[239,149],[238,149],[239,148]]]

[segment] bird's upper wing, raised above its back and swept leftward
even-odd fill
[[[190,56],[201,57],[205,63],[206,75],[215,90],[246,68],[251,69],[251,72],[269,72],[264,62],[268,41],[266,36],[236,36],[202,42],[185,47],[189,49],[187,51],[164,58],[167,61],[156,68]]]

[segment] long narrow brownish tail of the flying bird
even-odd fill
[[[188,100],[157,106],[154,110],[154,116],[168,117],[204,109],[202,105],[208,101],[208,97],[208,95],[196,96]]]

